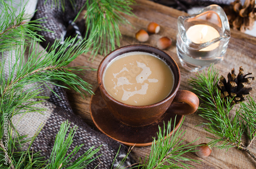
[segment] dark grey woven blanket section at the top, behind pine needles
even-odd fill
[[[55,4],[58,2],[59,4]],[[56,39],[60,39],[62,42],[65,40],[67,34],[67,28],[72,26],[71,22],[74,20],[80,9],[83,7],[86,0],[77,0],[74,8],[70,3],[70,0],[65,0],[65,10],[61,8],[61,1],[38,0],[37,12],[33,19],[41,19],[44,23],[41,23],[42,27],[49,29],[52,32],[39,31],[38,34],[45,37],[45,41],[41,42],[43,47],[51,46]]]

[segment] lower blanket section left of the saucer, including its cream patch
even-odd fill
[[[49,159],[60,125],[62,122],[68,120],[69,123],[71,123],[70,127],[78,127],[73,137],[71,148],[68,149],[68,153],[71,153],[76,146],[84,144],[76,154],[75,158],[70,162],[74,162],[91,147],[95,146],[96,149],[101,146],[100,151],[95,155],[95,157],[99,155],[101,156],[87,165],[87,168],[96,167],[105,169],[111,168],[112,164],[117,166],[121,163],[121,160],[127,154],[127,147],[103,133],[92,129],[84,123],[79,116],[75,115],[69,105],[67,94],[62,88],[55,86],[53,91],[57,93],[59,97],[52,93],[48,101],[35,105],[38,108],[46,109],[45,111],[42,111],[41,113],[20,113],[12,118],[12,123],[14,124],[17,132],[20,135],[28,135],[28,138],[35,135],[40,124],[44,124],[41,131],[35,138],[31,146],[31,150],[34,152],[40,151],[40,154],[44,156],[46,160]],[[25,144],[24,149],[27,149],[29,144],[29,142]],[[114,161],[114,157],[116,156],[119,147],[120,151],[118,157]],[[133,162],[133,159],[128,157],[122,167],[129,166]]]

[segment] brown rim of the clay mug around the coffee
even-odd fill
[[[105,60],[108,59],[108,57],[110,57],[113,53],[116,53],[117,51],[119,51],[119,50],[121,50],[121,49],[124,49],[124,48],[126,49],[126,48],[132,48],[132,47],[138,47],[138,48],[139,48],[139,47],[143,47],[145,50],[146,50],[147,48],[152,48],[152,49],[154,49],[154,50],[157,50],[157,51],[163,53],[164,55],[169,56],[170,60],[172,61],[172,64],[175,65],[175,69],[177,70],[177,74],[178,74],[178,76],[177,76],[178,79],[176,80],[175,77],[174,77],[174,81],[177,81],[177,85],[174,86],[173,89],[172,89],[172,91],[170,92],[170,94],[169,94],[165,99],[161,100],[160,102],[157,102],[157,103],[154,103],[154,104],[150,104],[150,105],[142,105],[142,106],[130,105],[130,104],[126,104],[126,103],[123,103],[123,102],[120,102],[120,101],[116,100],[115,98],[113,98],[113,97],[106,91],[106,89],[105,89],[105,87],[104,87],[104,84],[103,84],[103,77],[101,77],[101,75],[100,75],[100,69],[101,69],[101,67],[103,66],[103,63],[104,63]],[[148,50],[147,53],[149,53],[149,52],[152,52],[152,51]],[[126,52],[126,53],[129,53],[129,52]],[[146,51],[145,51],[145,53],[146,53]],[[121,54],[120,54],[120,55],[121,55]],[[160,58],[160,59],[161,59],[161,58]],[[162,60],[162,59],[161,59],[161,60]],[[164,61],[164,62],[165,62],[165,61]],[[108,64],[109,64],[109,63],[106,63],[106,65],[108,65]],[[170,67],[170,66],[169,66],[169,67]],[[173,69],[171,69],[171,70],[174,71]],[[103,71],[103,73],[104,73],[105,69],[102,69],[102,71]],[[102,73],[102,75],[103,75],[103,73]],[[175,74],[175,73],[173,72],[173,74]],[[174,76],[175,76],[175,75],[174,75]],[[156,48],[156,47],[154,47],[154,46],[151,46],[151,45],[145,45],[145,44],[131,44],[131,45],[125,45],[125,46],[118,47],[118,49],[115,49],[114,51],[110,52],[108,55],[106,55],[106,56],[101,60],[99,66],[98,66],[98,70],[97,70],[97,81],[98,81],[98,86],[99,86],[100,90],[101,90],[102,92],[104,92],[104,94],[105,94],[111,101],[115,102],[116,104],[121,105],[121,106],[125,106],[125,107],[130,107],[130,108],[133,108],[133,109],[150,108],[150,107],[159,106],[159,105],[161,105],[161,104],[167,102],[169,99],[175,97],[175,95],[176,95],[176,93],[177,93],[177,91],[178,91],[178,89],[179,89],[179,86],[180,86],[180,69],[179,69],[177,63],[175,62],[175,60],[174,60],[169,54],[167,54],[166,52],[164,52],[164,51],[162,51],[162,50],[160,50],[160,49],[158,49],[158,48]],[[102,84],[101,84],[100,82],[101,82]],[[174,83],[174,85],[175,85],[175,83]]]

